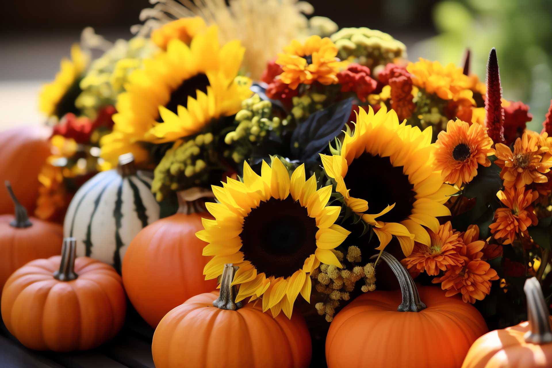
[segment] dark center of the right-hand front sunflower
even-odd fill
[[[345,184],[351,189],[349,194],[368,201],[369,213],[378,214],[388,205],[395,203],[394,209],[379,221],[399,222],[411,214],[416,200],[413,184],[402,173],[402,166],[393,167],[389,157],[372,156],[365,152],[354,159],[347,170]]]

